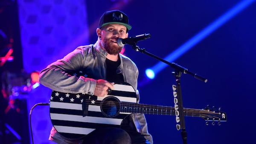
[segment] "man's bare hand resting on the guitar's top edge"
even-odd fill
[[[104,97],[105,95],[108,95],[108,90],[113,89],[113,84],[114,83],[110,83],[106,80],[97,80],[94,95],[99,97]]]

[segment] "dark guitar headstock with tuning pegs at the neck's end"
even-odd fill
[[[209,121],[212,121],[212,125],[215,124],[215,122],[218,122],[218,125],[221,124],[221,121],[227,121],[227,114],[226,112],[222,112],[221,108],[218,110],[215,109],[215,107],[212,107],[212,109],[209,109],[209,106],[204,109],[204,113],[200,114],[201,118],[204,118],[207,125],[209,125]]]

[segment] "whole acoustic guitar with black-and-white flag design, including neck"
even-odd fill
[[[137,104],[137,95],[130,84],[114,84],[105,97],[82,93],[52,91],[50,118],[52,125],[67,138],[82,138],[95,129],[120,127],[131,113],[175,115],[174,107]],[[209,109],[183,109],[185,116],[204,118],[206,121],[227,121],[225,112]]]

